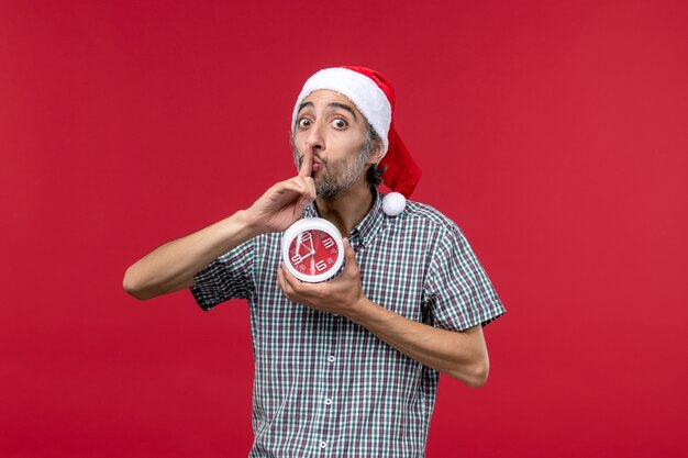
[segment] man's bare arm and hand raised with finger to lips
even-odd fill
[[[140,259],[124,273],[124,290],[145,300],[192,287],[196,273],[219,256],[259,234],[289,227],[315,199],[312,164],[312,152],[308,149],[299,175],[273,186],[249,209],[169,242]]]

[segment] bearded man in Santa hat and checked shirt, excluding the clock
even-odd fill
[[[382,167],[407,197],[420,178],[393,129],[393,100],[376,71],[317,72],[293,112],[298,175],[124,277],[138,299],[191,288],[204,310],[248,300],[252,457],[421,457],[439,372],[471,387],[487,380],[482,326],[504,309],[463,234],[421,203],[382,209]],[[344,268],[330,281],[281,268],[282,232],[302,216],[346,236]]]

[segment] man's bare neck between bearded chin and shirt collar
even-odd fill
[[[337,198],[318,197],[315,204],[321,217],[334,224],[346,237],[373,208],[375,194],[364,179]]]

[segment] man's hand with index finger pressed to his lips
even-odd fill
[[[299,175],[268,189],[248,210],[247,224],[258,233],[280,232],[301,217],[303,209],[315,200],[313,150],[303,152]]]

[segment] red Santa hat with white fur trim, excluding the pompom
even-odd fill
[[[421,179],[421,169],[395,130],[395,90],[379,71],[365,67],[325,68],[310,77],[297,98],[291,119],[296,129],[299,105],[313,91],[329,89],[351,100],[382,142],[380,167],[385,185],[409,198]]]

